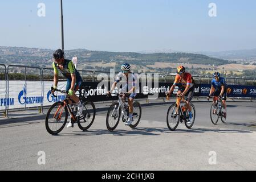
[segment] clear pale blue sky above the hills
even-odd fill
[[[38,3],[46,6],[43,17]],[[209,3],[217,16],[209,16]],[[64,49],[256,48],[255,0],[63,0],[63,15]],[[61,47],[59,0],[1,0],[0,17],[0,46]]]

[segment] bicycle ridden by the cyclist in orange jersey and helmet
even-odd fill
[[[177,96],[176,103],[170,105],[168,111],[167,111],[167,117],[166,122],[169,130],[174,131],[176,130],[179,122],[184,122],[185,126],[188,129],[191,129],[191,127],[194,125],[194,120],[196,119],[196,107],[192,103],[190,103],[190,106],[192,108],[192,119],[190,120],[190,124],[188,123],[189,119],[189,111],[186,107],[186,103],[181,106],[180,102],[185,102],[184,98],[182,96]],[[170,118],[169,118],[170,117]]]

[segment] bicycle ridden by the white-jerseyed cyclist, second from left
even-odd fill
[[[113,102],[113,104],[109,107],[108,109],[108,114],[106,118],[106,125],[107,129],[109,131],[113,131],[116,129],[120,117],[121,117],[121,112],[123,114],[122,121],[127,122],[129,119],[129,106],[127,104],[127,97],[124,98],[123,102],[123,94],[119,93],[112,93],[116,96],[119,96],[119,100],[117,102]],[[109,97],[109,96],[107,96]],[[141,118],[141,105],[140,102],[133,102],[133,123],[129,125],[132,129],[135,129],[137,125],[139,125],[140,118]]]

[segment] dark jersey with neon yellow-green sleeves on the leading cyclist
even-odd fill
[[[71,74],[75,73],[76,78],[80,78],[79,72],[76,70],[74,63],[71,60],[64,59],[63,61],[63,70],[59,68],[59,64],[53,62],[52,67],[54,68],[54,73],[58,74],[59,71],[62,75],[68,79],[71,79]]]

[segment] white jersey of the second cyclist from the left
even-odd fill
[[[139,93],[139,86],[137,85],[137,75],[135,73],[129,73],[128,77],[126,77],[122,72],[119,72],[116,76],[116,82],[120,82],[122,78],[126,78],[126,83],[122,87],[121,92],[127,93],[133,87],[135,87],[135,93]]]

